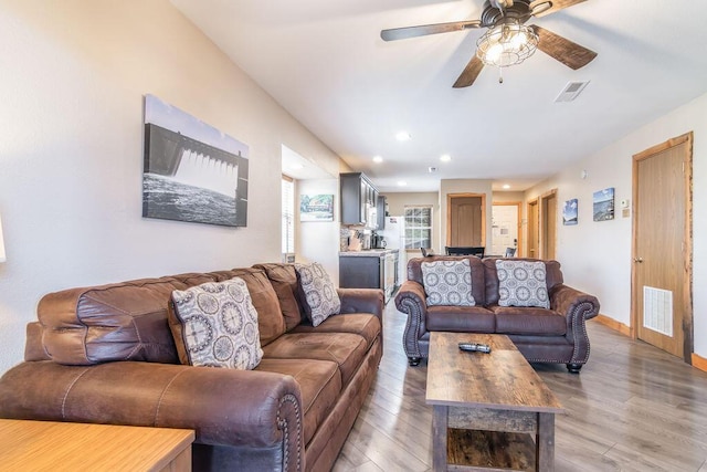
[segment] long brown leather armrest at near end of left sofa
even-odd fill
[[[25,361],[0,378],[0,417],[192,429],[197,442],[282,448],[304,461],[302,395],[292,376],[144,361]]]

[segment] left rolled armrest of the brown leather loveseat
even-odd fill
[[[405,331],[403,333],[403,347],[409,358],[421,358],[424,353],[420,349],[418,340],[428,332],[428,302],[422,284],[415,281],[405,281],[395,295],[395,306],[399,312],[408,315]]]

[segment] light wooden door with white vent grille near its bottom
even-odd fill
[[[692,133],[633,156],[632,323],[692,361]]]

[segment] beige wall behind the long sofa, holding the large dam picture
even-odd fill
[[[48,292],[279,260],[283,144],[339,171],[167,0],[0,0],[0,374],[22,359]],[[147,93],[250,146],[247,228],[141,218]]]

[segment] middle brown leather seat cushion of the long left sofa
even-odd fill
[[[366,339],[350,333],[286,333],[263,348],[266,358],[330,360],[347,385],[367,353]]]

